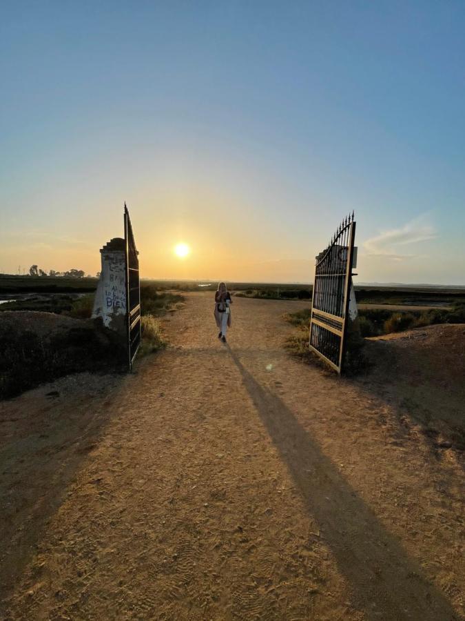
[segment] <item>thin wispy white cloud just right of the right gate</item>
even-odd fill
[[[368,257],[383,257],[393,261],[404,261],[405,259],[413,259],[417,255],[397,252],[397,246],[427,242],[429,239],[435,239],[435,237],[437,235],[433,226],[424,223],[422,218],[416,218],[402,228],[386,230],[380,233],[380,235],[367,239],[363,247]]]

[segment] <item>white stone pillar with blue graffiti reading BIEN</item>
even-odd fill
[[[126,339],[125,241],[121,237],[114,237],[100,252],[102,269],[92,317],[101,317],[106,328]]]

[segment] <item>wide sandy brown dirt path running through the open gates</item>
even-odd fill
[[[132,377],[1,406],[0,616],[465,618],[455,453],[291,359],[281,315],[304,302],[236,298],[224,346],[210,298]]]

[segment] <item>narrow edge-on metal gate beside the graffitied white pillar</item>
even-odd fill
[[[132,234],[131,219],[124,204],[124,241],[126,266],[126,322],[127,355],[130,371],[141,344],[141,285],[139,282],[139,259]]]

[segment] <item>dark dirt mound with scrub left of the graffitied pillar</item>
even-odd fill
[[[68,373],[116,371],[124,364],[125,350],[114,333],[92,319],[0,314],[0,398]]]

